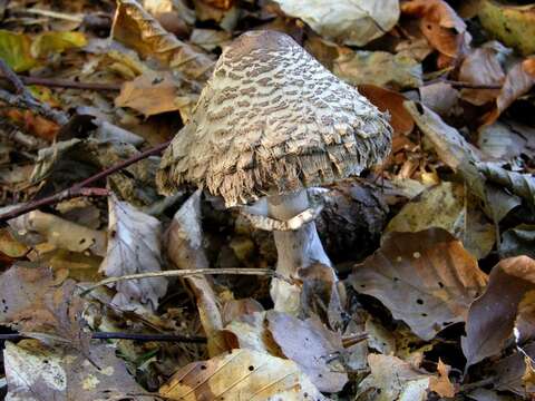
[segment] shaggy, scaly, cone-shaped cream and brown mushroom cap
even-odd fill
[[[217,60],[156,182],[164,194],[207,188],[231,207],[358,175],[390,146],[388,116],[357,89],[291,37],[250,31]]]

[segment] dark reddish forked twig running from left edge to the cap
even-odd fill
[[[7,222],[11,218],[14,218],[14,217],[18,217],[20,215],[23,215],[25,213],[35,211],[35,209],[37,209],[38,207],[41,207],[41,206],[55,205],[55,204],[57,204],[61,200],[65,200],[65,199],[70,199],[70,198],[78,197],[78,196],[95,196],[95,195],[96,196],[107,196],[109,194],[107,192],[106,193],[103,192],[103,190],[106,190],[106,189],[103,189],[103,188],[87,188],[87,187],[90,184],[93,184],[95,182],[98,182],[99,179],[105,178],[108,175],[114,174],[114,173],[116,173],[116,172],[118,172],[123,168],[126,168],[134,163],[137,163],[137,162],[139,162],[139,160],[142,160],[142,159],[144,159],[148,156],[159,154],[163,149],[165,149],[169,145],[169,143],[171,141],[166,141],[166,143],[159,144],[159,145],[157,145],[157,146],[155,146],[155,147],[153,147],[148,150],[142,151],[140,154],[138,154],[134,157],[130,157],[130,158],[128,158],[124,162],[120,162],[120,163],[116,164],[115,166],[111,166],[109,168],[106,168],[106,169],[101,170],[100,173],[95,174],[94,176],[90,176],[89,178],[86,178],[81,183],[72,185],[68,189],[65,189],[65,190],[61,190],[61,192],[56,193],[54,195],[47,196],[42,199],[29,202],[26,205],[22,205],[21,207],[17,207],[17,208],[14,208],[10,212],[1,214],[0,215],[0,223],[4,223],[4,222]],[[96,190],[96,189],[99,189],[99,190]]]

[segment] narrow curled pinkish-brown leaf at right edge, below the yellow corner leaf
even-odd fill
[[[507,71],[504,86],[496,99],[496,106],[494,110],[483,116],[483,125],[489,125],[496,121],[506,108],[532,89],[535,84],[535,75],[529,71],[533,71],[534,60],[535,57],[518,62]]]

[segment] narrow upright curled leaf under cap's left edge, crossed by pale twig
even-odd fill
[[[201,225],[201,189],[196,190],[176,212],[165,235],[169,260],[178,268],[208,268],[203,247]],[[186,277],[197,302],[201,323],[208,339],[208,353],[215,356],[227,350],[223,335],[223,322],[211,278],[204,275]]]

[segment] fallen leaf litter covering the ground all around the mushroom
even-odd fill
[[[0,1],[0,397],[533,399],[534,16],[492,0]],[[302,290],[295,315],[273,310],[271,275],[241,274],[275,266],[272,233],[202,188],[160,195],[150,150],[188,135],[221,52],[261,29],[393,128],[381,166],[321,195],[338,277],[322,263],[282,277]]]

